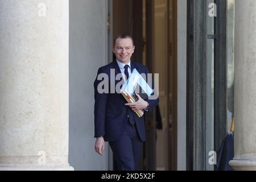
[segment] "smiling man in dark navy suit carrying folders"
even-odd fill
[[[102,155],[105,142],[108,141],[117,161],[118,170],[135,170],[135,166],[141,158],[143,142],[146,140],[144,115],[139,118],[135,111],[142,110],[144,113],[151,111],[159,102],[158,98],[143,100],[137,94],[138,101],[127,104],[122,94],[118,93],[119,80],[115,80],[118,74],[122,74],[121,78],[124,82],[134,68],[140,74],[147,75],[148,73],[148,69],[144,65],[130,61],[134,49],[131,36],[117,36],[113,46],[113,52],[117,59],[99,68],[94,81],[94,137],[97,138],[94,148],[98,154]],[[102,86],[102,76],[104,77],[104,75],[108,76],[109,80]],[[113,90],[110,88],[111,86],[114,86],[113,93],[110,92]],[[102,92],[101,89],[107,90],[107,92]]]

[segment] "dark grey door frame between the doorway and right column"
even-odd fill
[[[187,170],[207,169],[207,39],[214,39],[214,151],[226,135],[226,1],[214,2],[217,5],[214,35],[207,35],[207,1],[188,0],[187,4]]]

